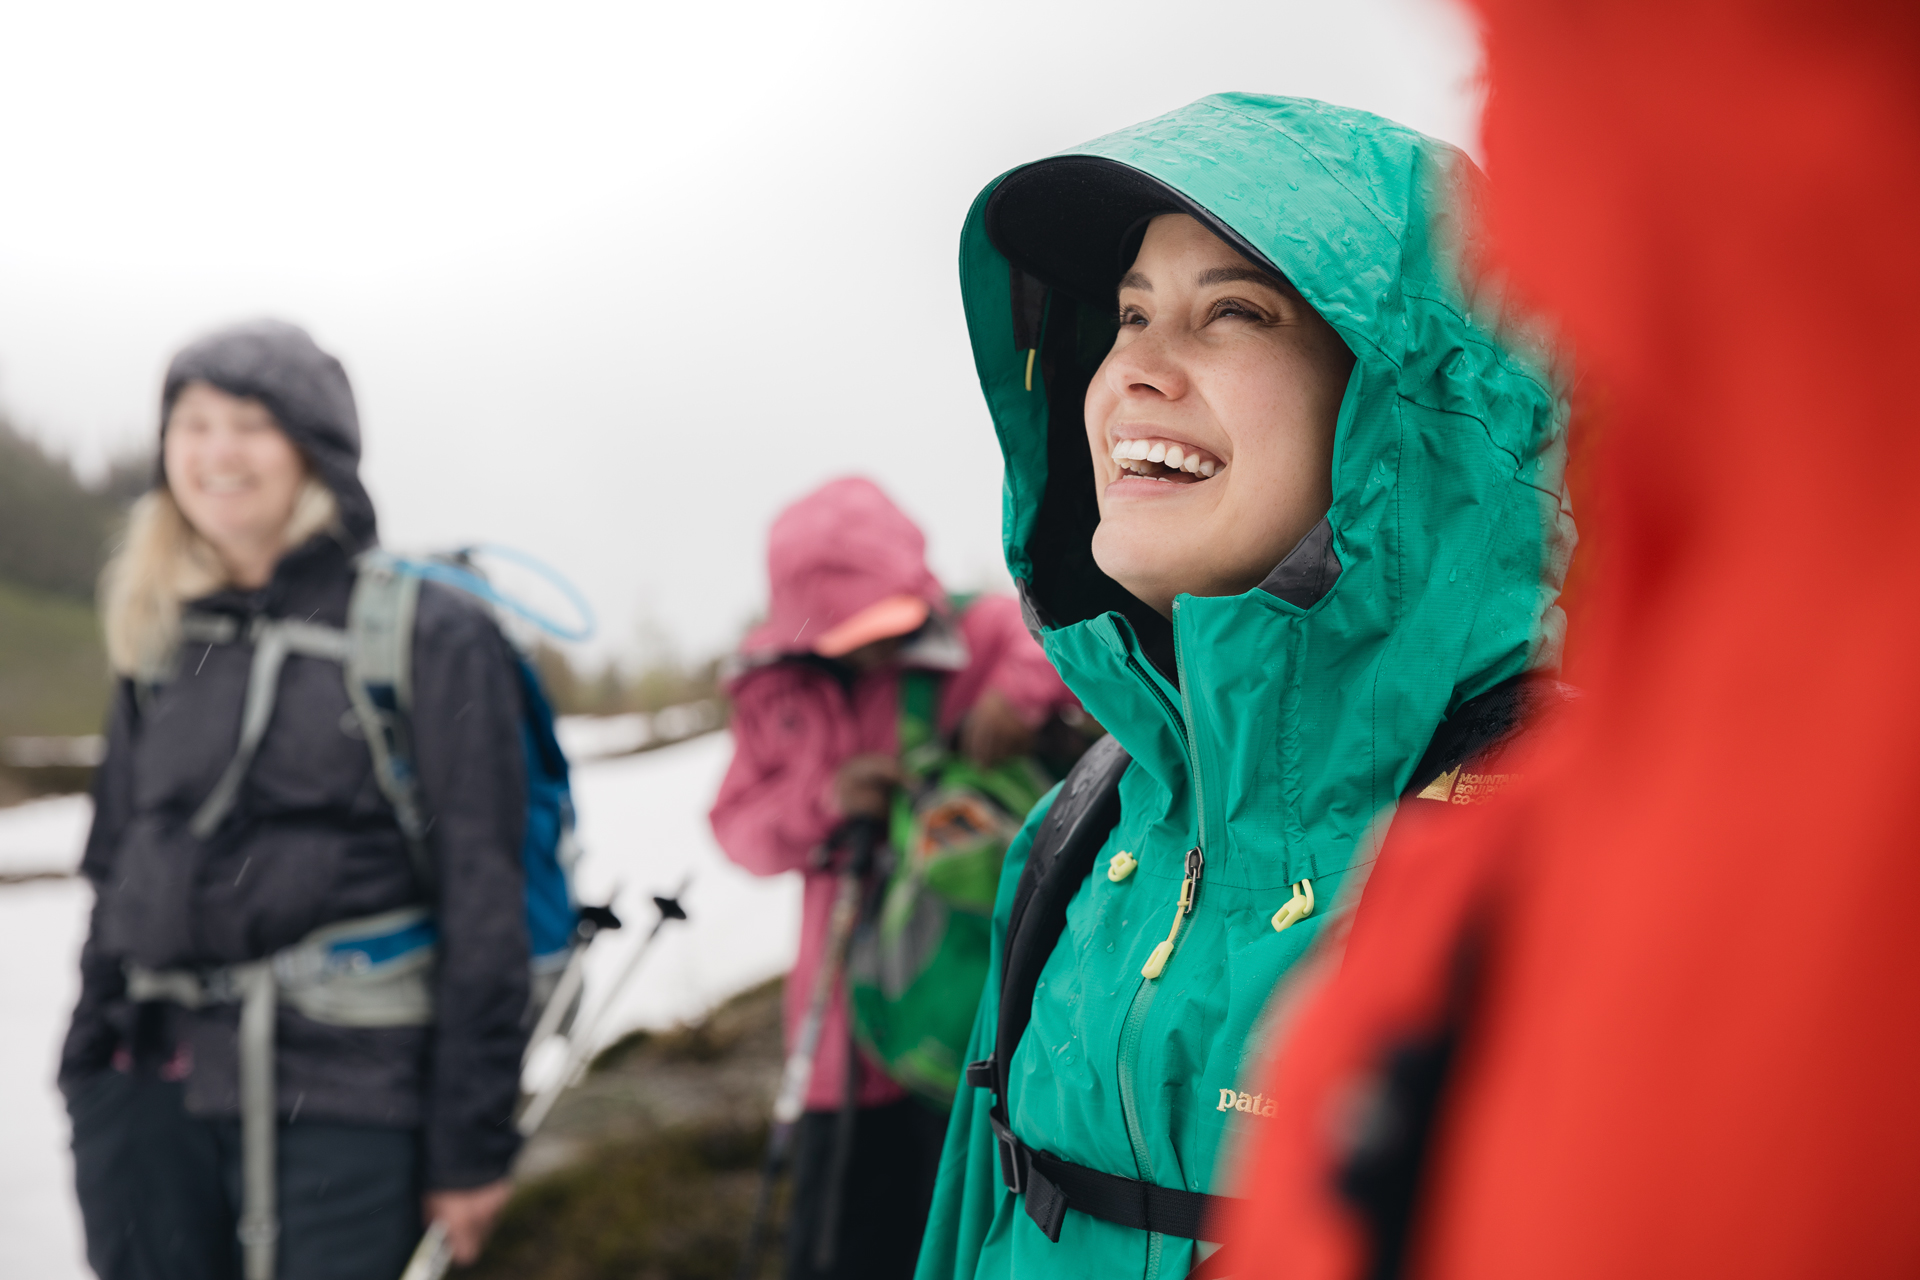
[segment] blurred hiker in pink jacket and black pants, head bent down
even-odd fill
[[[868,480],[822,486],[774,520],[768,618],[737,654],[733,764],[712,808],[714,837],[755,875],[806,877],[801,954],[787,979],[789,1044],[806,1017],[828,946],[833,837],[851,818],[883,819],[900,783],[900,672],[948,672],[939,733],[979,764],[1035,750],[1037,733],[1077,710],[1027,635],[1020,604],[985,597],[954,610],[925,564],[925,537]],[[787,1276],[906,1276],[933,1190],[947,1117],[864,1054],[852,1159],[839,1196],[829,1272],[812,1263],[818,1186],[847,1092],[845,988],[828,1006],[806,1090],[787,1232]]]

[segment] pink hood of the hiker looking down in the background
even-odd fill
[[[741,643],[747,658],[810,652],[860,610],[910,595],[947,610],[927,568],[927,539],[872,480],[831,480],[780,512],[768,533],[766,622]]]

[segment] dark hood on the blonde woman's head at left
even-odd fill
[[[372,499],[359,482],[359,411],[348,370],[286,320],[246,320],[200,338],[173,357],[159,397],[159,432],[188,382],[211,382],[228,395],[257,399],[340,503],[349,549],[376,541]],[[167,482],[165,449],[159,484]]]

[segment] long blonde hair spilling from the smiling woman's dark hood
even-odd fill
[[[340,505],[332,489],[307,476],[286,520],[282,545],[292,549],[332,528]],[[108,660],[119,676],[163,679],[180,643],[180,610],[209,591],[230,585],[213,543],[188,522],[161,486],[127,514],[127,541],[100,570],[100,618]]]

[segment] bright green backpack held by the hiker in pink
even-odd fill
[[[900,674],[891,867],[847,950],[852,1034],[887,1075],[952,1105],[987,983],[1000,862],[1054,779],[1014,756],[981,770],[935,731],[941,676]]]

